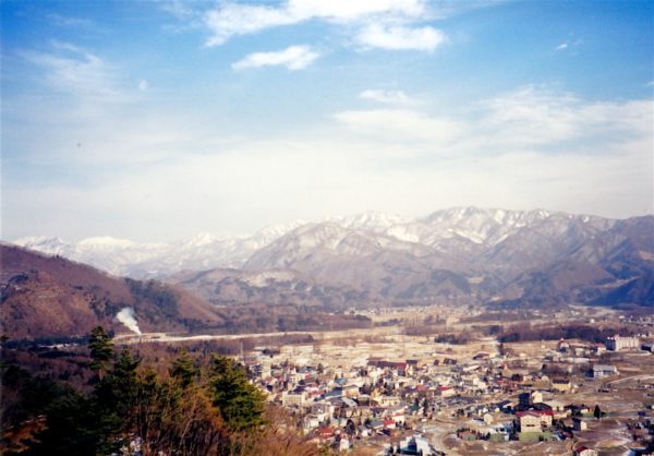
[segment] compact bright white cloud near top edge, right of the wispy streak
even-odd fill
[[[371,24],[363,27],[356,39],[365,47],[433,52],[446,38],[443,32],[428,26],[411,28]]]

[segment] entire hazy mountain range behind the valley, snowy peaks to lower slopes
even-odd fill
[[[16,243],[113,274],[166,277],[217,304],[654,304],[654,216],[455,207],[417,219],[365,213],[169,244]]]

